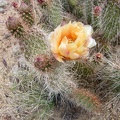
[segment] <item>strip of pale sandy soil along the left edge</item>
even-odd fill
[[[13,0],[7,0],[7,2],[4,13],[0,13],[0,120],[11,120],[13,108],[9,73],[16,61],[13,55],[14,46],[18,44],[18,40],[9,33],[5,25],[9,16],[17,14],[11,7]]]

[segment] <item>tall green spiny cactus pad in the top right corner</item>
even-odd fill
[[[111,43],[118,37],[120,31],[120,8],[113,2],[108,2],[107,7],[104,8],[101,31],[104,34],[106,42]]]

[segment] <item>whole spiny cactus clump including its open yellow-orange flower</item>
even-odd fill
[[[111,98],[119,96],[119,61],[116,64],[110,60],[112,49],[109,53],[106,50],[107,55],[103,52],[103,46],[109,47],[107,41],[114,47],[113,42],[117,42],[116,38],[119,37],[119,5],[118,2],[111,4],[109,1],[22,0],[20,6],[15,2],[12,4],[22,19],[9,17],[6,26],[15,36],[20,37],[26,33],[19,42],[22,49],[14,55],[18,55],[16,58],[19,61],[13,67],[17,83],[15,95],[21,98],[16,97],[20,109],[15,107],[20,119],[49,119],[43,116],[47,116],[46,110],[51,111],[51,102],[53,107],[64,106],[67,112],[80,107],[96,113]],[[34,19],[35,25],[32,26]],[[81,21],[84,24],[69,21]],[[94,34],[91,26],[95,30]],[[29,32],[24,32],[23,28]],[[96,41],[97,47],[90,52]],[[117,59],[116,56],[114,58]],[[69,62],[60,63],[64,61]],[[74,113],[71,116],[75,116]],[[64,116],[72,120],[72,117]],[[107,114],[107,117],[95,116],[94,119],[109,117]]]

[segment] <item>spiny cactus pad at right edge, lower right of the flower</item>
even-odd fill
[[[112,56],[111,56],[112,57]],[[113,58],[114,60],[114,58]],[[102,79],[103,82],[107,83],[109,93],[114,93],[115,96],[119,95],[120,93],[120,66],[119,66],[119,57],[114,60],[114,62],[107,61],[108,65],[105,66],[100,73],[102,74],[99,79]],[[109,94],[108,93],[108,94]]]

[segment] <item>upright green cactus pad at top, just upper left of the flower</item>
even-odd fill
[[[44,3],[43,3],[44,4]],[[61,24],[62,16],[62,5],[60,0],[49,1],[46,3],[45,7],[42,7],[44,13],[46,14],[46,19],[44,19],[45,27],[49,27],[49,30],[53,30],[55,27]],[[44,16],[43,16],[44,17]],[[44,24],[43,22],[41,24]]]

